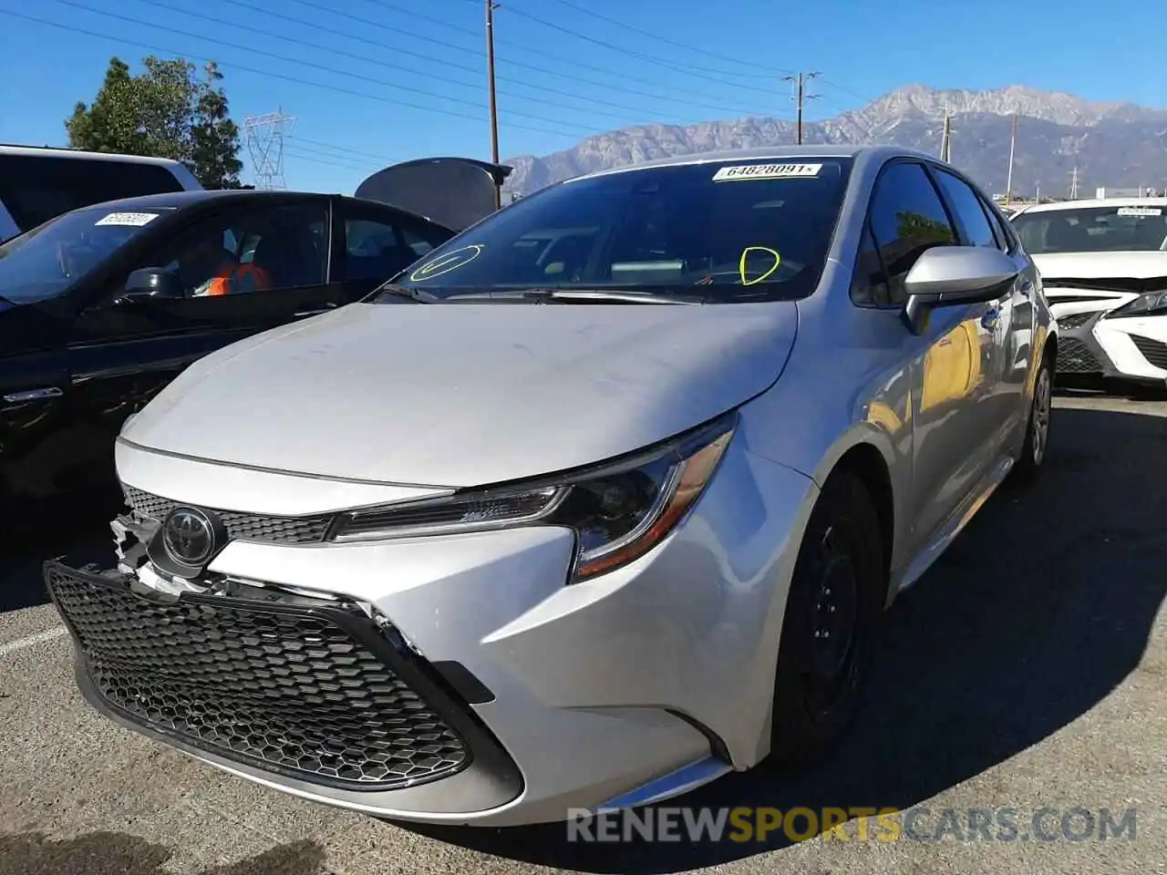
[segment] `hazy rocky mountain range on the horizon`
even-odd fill
[[[939,154],[945,110],[951,160],[987,191],[1004,192],[1009,135],[1018,117],[1013,195],[1065,197],[1099,187],[1167,188],[1167,110],[1092,103],[1074,94],[1009,85],[992,91],[906,85],[862,108],[803,124],[804,144],[892,144]],[[526,195],[580,174],[671,155],[796,141],[795,123],[742,118],[697,125],[636,125],[591,136],[550,155],[519,155],[504,191]]]

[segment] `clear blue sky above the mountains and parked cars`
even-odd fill
[[[502,155],[637,123],[792,117],[781,77],[796,70],[822,71],[808,118],[908,83],[1165,105],[1167,2],[1118,6],[503,0]],[[214,58],[237,120],[296,118],[289,188],[351,194],[396,161],[489,158],[483,16],[483,0],[0,0],[0,142],[64,145],[113,55],[135,70],[148,54]]]

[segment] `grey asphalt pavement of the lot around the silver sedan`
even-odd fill
[[[1167,402],[1056,407],[1039,483],[994,496],[889,612],[839,755],[666,803],[894,807],[897,840],[871,818],[805,841],[580,844],[562,825],[403,826],[246,784],[83,705],[40,562],[110,555],[86,506],[0,559],[0,875],[1167,873]],[[1128,814],[1124,834],[1091,828],[1104,808]],[[967,828],[973,810],[1012,810],[1020,834]]]

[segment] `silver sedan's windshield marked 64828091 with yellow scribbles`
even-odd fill
[[[850,159],[771,159],[552,186],[438,247],[393,284],[426,300],[525,288],[712,302],[804,298],[818,285],[850,169]]]

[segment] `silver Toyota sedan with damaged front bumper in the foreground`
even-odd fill
[[[928,155],[598,173],[190,366],[118,440],[116,560],[46,579],[96,708],[271,788],[659,800],[831,750],[882,609],[1042,464],[1055,355]]]

